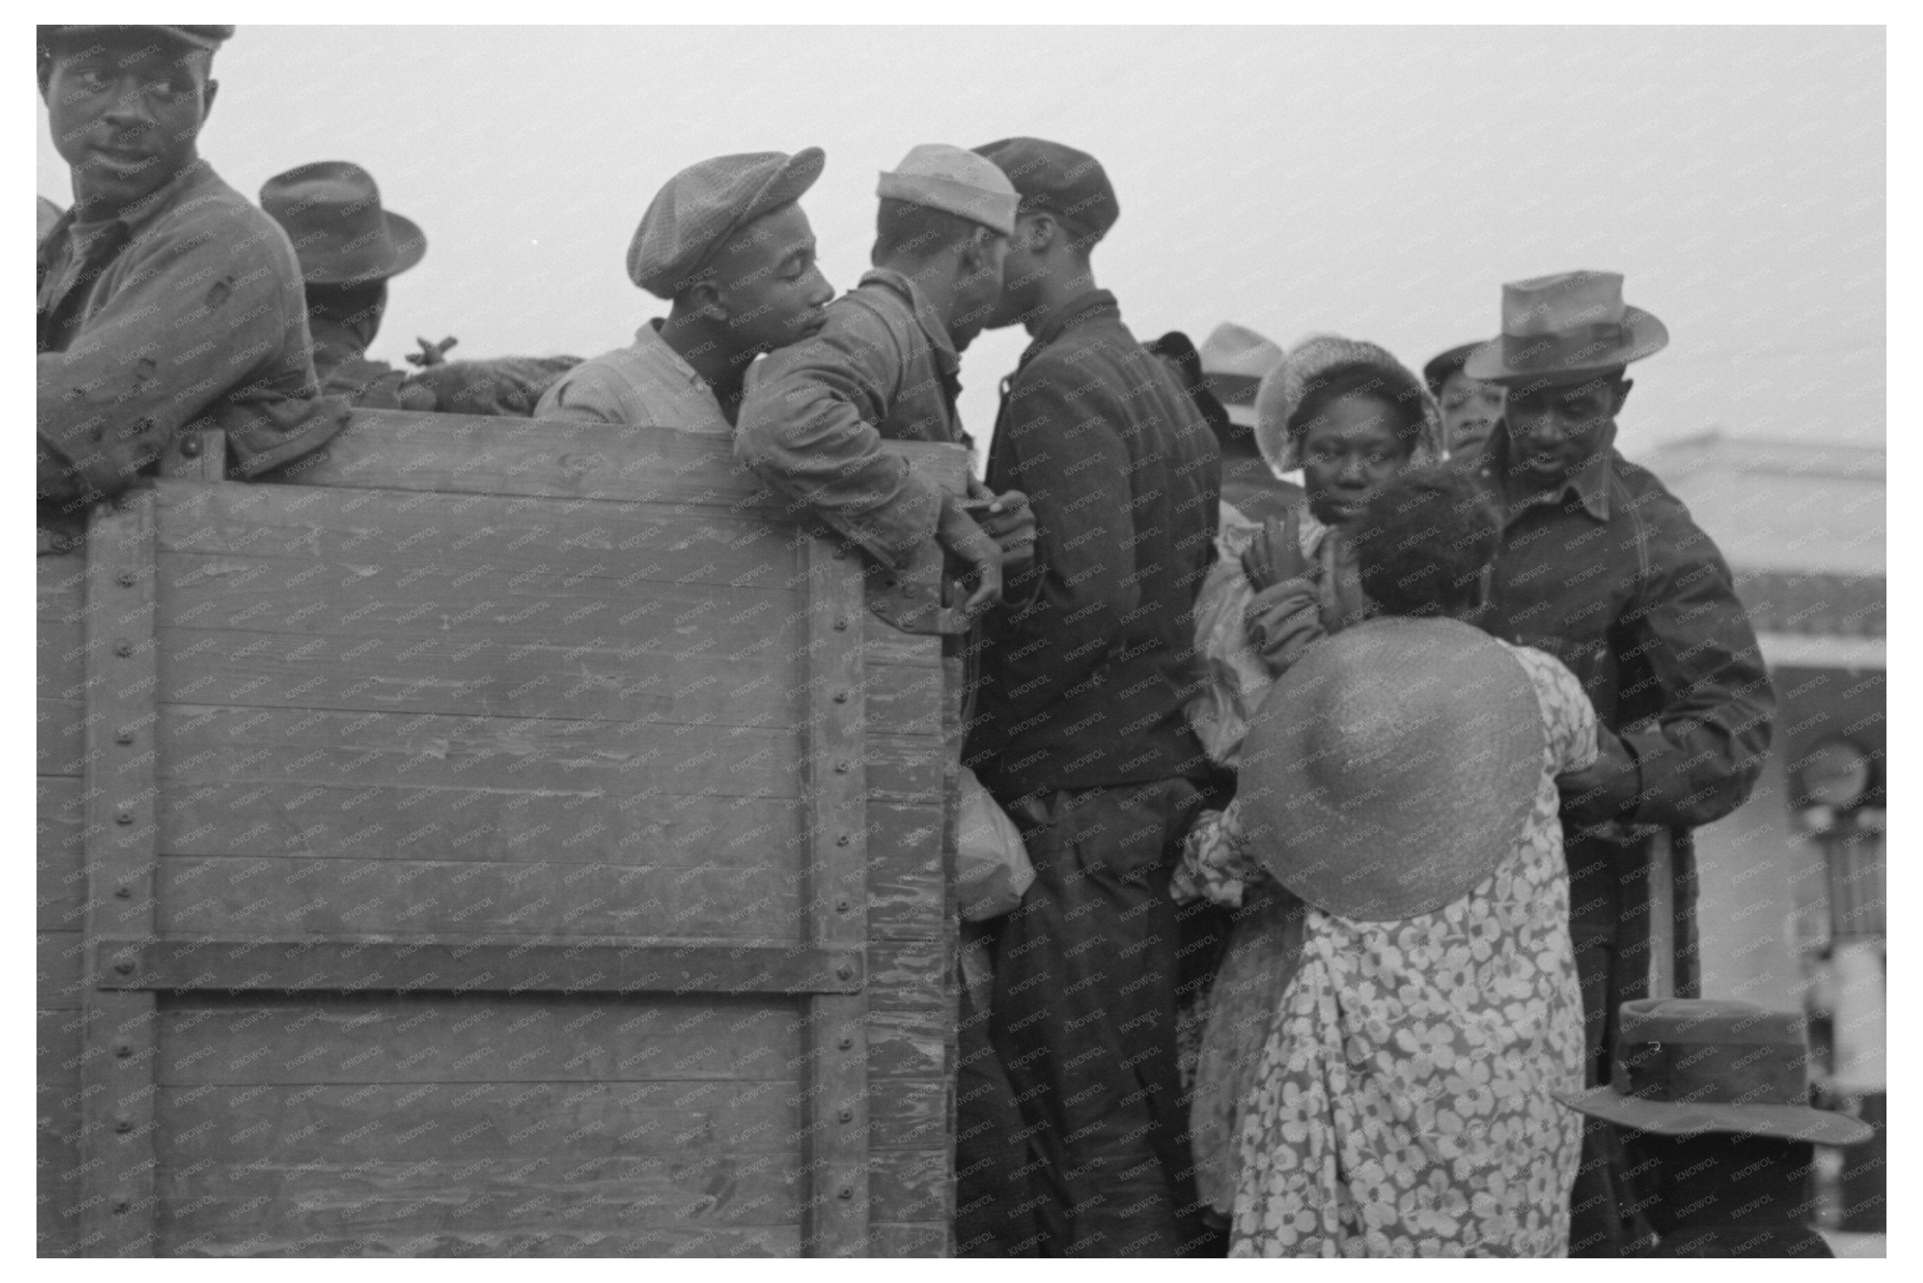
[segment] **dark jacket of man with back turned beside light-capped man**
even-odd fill
[[[1029,496],[1036,554],[1010,587],[1023,604],[985,625],[967,764],[1004,800],[1206,777],[1183,702],[1204,681],[1190,612],[1221,452],[1108,290],[1073,300],[1023,352],[988,489]]]

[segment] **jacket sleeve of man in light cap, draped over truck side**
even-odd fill
[[[750,379],[735,456],[777,492],[892,566],[935,535],[942,492],[881,448],[902,354],[860,306],[829,310],[813,339],[771,354]]]

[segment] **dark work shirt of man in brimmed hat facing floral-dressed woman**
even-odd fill
[[[1506,467],[1498,425],[1483,475],[1508,517],[1477,621],[1567,664],[1623,737],[1640,783],[1608,798],[1621,819],[1721,819],[1748,798],[1775,716],[1721,552],[1613,440],[1548,494],[1506,487]]]

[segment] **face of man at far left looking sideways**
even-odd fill
[[[194,164],[213,104],[212,56],[152,29],[81,33],[42,87],[54,150],[73,169],[81,217],[110,217]]]

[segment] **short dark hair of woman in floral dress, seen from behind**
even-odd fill
[[[1477,602],[1502,519],[1473,471],[1413,467],[1369,500],[1354,529],[1361,591],[1388,616],[1458,616]]]

